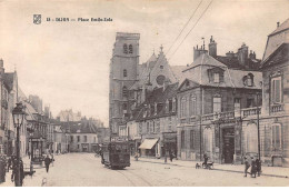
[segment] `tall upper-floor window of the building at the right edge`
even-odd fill
[[[282,102],[282,86],[281,77],[275,77],[271,79],[271,103]]]

